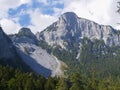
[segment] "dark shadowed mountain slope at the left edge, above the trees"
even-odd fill
[[[32,71],[30,67],[20,58],[16,47],[11,39],[3,32],[0,27],[0,64],[3,66],[9,65],[14,68],[19,68],[23,71]]]

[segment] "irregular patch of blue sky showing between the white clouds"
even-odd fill
[[[19,24],[21,26],[29,26],[31,24],[30,22],[30,15],[27,12],[28,10],[36,10],[36,8],[41,10],[41,13],[44,15],[53,15],[55,12],[53,8],[63,9],[64,4],[63,3],[53,3],[52,0],[47,0],[47,4],[43,2],[39,2],[37,0],[33,0],[32,3],[29,4],[22,4],[17,8],[10,8],[8,10],[8,14],[10,18],[19,17]],[[24,13],[22,13],[24,11]]]

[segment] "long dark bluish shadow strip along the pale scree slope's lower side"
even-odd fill
[[[25,54],[21,50],[17,49],[18,54],[20,57],[24,60],[24,62],[29,65],[36,73],[41,74],[45,77],[48,77],[51,75],[51,70],[47,69],[40,64],[38,64],[32,57]]]

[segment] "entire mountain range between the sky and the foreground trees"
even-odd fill
[[[23,27],[9,37],[1,30],[0,57],[19,57],[45,77],[63,75],[66,69],[70,75],[74,72],[88,76],[95,72],[99,77],[120,75],[120,31],[79,18],[73,12],[64,13],[36,35]]]

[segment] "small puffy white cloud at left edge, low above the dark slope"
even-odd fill
[[[17,33],[18,29],[20,29],[20,25],[11,19],[1,19],[0,24],[7,34]]]

